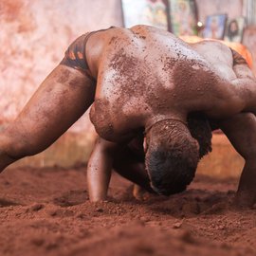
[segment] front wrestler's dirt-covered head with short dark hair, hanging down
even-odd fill
[[[159,194],[183,192],[192,182],[199,161],[199,146],[179,120],[156,122],[146,135],[146,170]]]

